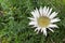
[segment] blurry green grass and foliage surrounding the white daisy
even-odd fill
[[[48,37],[28,25],[30,12],[40,6],[58,12],[60,27]],[[65,43],[65,0],[0,0],[0,43]]]

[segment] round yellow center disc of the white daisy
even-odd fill
[[[50,24],[50,18],[46,17],[46,16],[40,16],[38,18],[38,25],[40,27],[48,27],[48,25]]]

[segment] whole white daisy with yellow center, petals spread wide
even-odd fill
[[[56,12],[52,12],[52,8],[49,9],[47,6],[44,6],[43,9],[40,6],[40,9],[36,9],[35,11],[31,12],[32,17],[29,17],[29,19],[31,20],[29,23],[29,25],[34,25],[34,27],[37,27],[35,29],[35,31],[37,31],[37,33],[39,31],[43,32],[44,35],[47,35],[47,29],[51,30],[52,32],[53,29],[51,28],[58,28],[55,23],[60,22],[61,19],[58,19],[58,17],[56,17],[57,13]],[[56,18],[55,18],[56,17]]]

